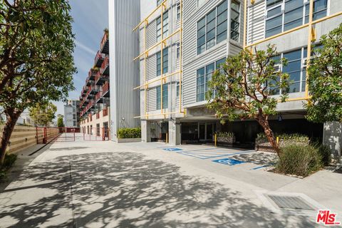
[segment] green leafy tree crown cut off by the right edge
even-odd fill
[[[309,63],[306,118],[316,123],[342,123],[342,24],[321,36]]]

